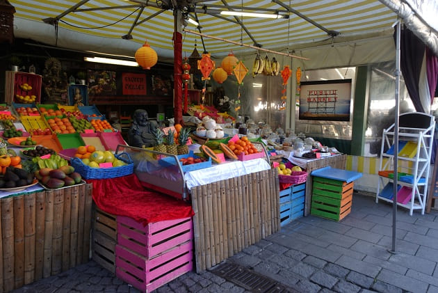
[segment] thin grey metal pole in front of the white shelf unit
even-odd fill
[[[397,21],[396,29],[396,111],[394,118],[394,186],[392,199],[392,247],[390,253],[396,252],[396,234],[397,234],[397,184],[398,184],[398,115],[400,112],[400,19]]]

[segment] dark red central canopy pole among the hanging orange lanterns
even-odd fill
[[[173,33],[173,88],[174,88],[174,109],[173,116],[175,124],[183,123],[182,119],[182,34],[181,23],[182,13],[177,9],[174,11],[175,31]]]

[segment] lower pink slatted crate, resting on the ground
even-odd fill
[[[193,241],[186,241],[148,260],[128,248],[115,246],[115,275],[142,292],[151,292],[193,269]]]

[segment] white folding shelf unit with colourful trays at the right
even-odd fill
[[[400,179],[397,184],[403,187],[412,189],[412,196],[408,203],[400,203],[397,205],[409,209],[409,214],[412,216],[414,209],[421,209],[421,214],[424,214],[425,205],[427,203],[428,181],[430,171],[430,155],[432,153],[433,135],[435,132],[435,117],[425,113],[404,113],[399,117],[398,141],[407,141],[416,143],[416,148],[411,154],[400,154],[402,149],[398,150],[398,156],[389,155],[384,152],[386,148],[391,149],[394,145],[394,130],[395,125],[391,125],[388,129],[383,130],[382,148],[380,155],[380,171],[393,171],[394,159],[398,157],[398,173],[407,173],[412,175],[405,182]],[[416,151],[415,151],[416,150]],[[388,182],[394,182],[391,178],[379,175],[378,188],[375,194],[375,202],[384,200],[392,203],[393,200],[381,196],[382,190]],[[394,191],[391,190],[391,194]]]

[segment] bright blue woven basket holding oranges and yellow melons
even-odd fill
[[[115,158],[124,161],[127,165],[111,168],[91,168],[90,166],[83,164],[81,159],[76,157],[71,159],[70,164],[72,164],[74,171],[81,174],[85,179],[107,179],[122,177],[133,173],[133,161],[127,152],[115,155]]]

